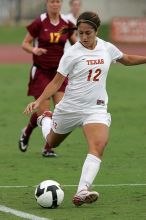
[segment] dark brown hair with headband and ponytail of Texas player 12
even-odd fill
[[[87,23],[87,24],[90,24],[95,31],[97,31],[97,29],[99,28],[100,26],[100,18],[98,16],[98,14],[94,13],[94,12],[91,12],[91,11],[86,11],[86,12],[83,12],[77,19],[77,24],[76,26],[74,26],[73,28],[63,28],[62,30],[60,30],[60,33],[61,34],[66,34],[68,32],[73,32],[75,30],[78,29],[78,26],[81,24],[81,23]]]

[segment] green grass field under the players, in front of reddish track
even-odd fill
[[[42,158],[44,141],[41,131],[36,129],[28,151],[18,150],[20,130],[28,120],[22,112],[31,100],[26,96],[28,72],[28,65],[0,65],[0,205],[52,220],[145,220],[145,65],[113,65],[110,70],[107,89],[112,125],[101,170],[94,182],[99,201],[75,208],[71,199],[76,187],[64,186],[64,202],[54,210],[36,204],[34,186],[46,179],[62,185],[78,184],[87,144],[81,129],[77,129],[56,149],[58,158]],[[0,220],[18,219],[22,218],[0,212]]]

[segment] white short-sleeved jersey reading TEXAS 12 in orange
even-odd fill
[[[57,70],[69,79],[57,108],[82,112],[107,109],[107,74],[110,64],[122,56],[116,46],[100,38],[94,50],[80,42],[74,44],[61,58]]]

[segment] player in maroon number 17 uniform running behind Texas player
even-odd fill
[[[76,42],[73,32],[66,35],[60,34],[63,27],[73,27],[73,24],[65,16],[60,15],[61,6],[62,0],[47,0],[47,13],[41,14],[27,26],[28,33],[22,47],[33,55],[28,95],[35,99],[41,95],[47,84],[54,78],[66,41],[69,40],[71,44]],[[62,86],[52,95],[54,105],[62,99],[66,85],[65,78]],[[23,129],[19,139],[19,149],[22,152],[27,150],[30,135],[37,127],[37,117],[45,110],[50,110],[50,98],[41,103],[37,112],[31,115],[28,125]],[[49,144],[44,147],[42,155],[45,157],[56,156]]]

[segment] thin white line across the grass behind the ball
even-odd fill
[[[61,185],[62,187],[77,187],[78,185]],[[146,183],[119,183],[119,184],[96,184],[93,187],[121,187],[121,186],[146,186]],[[0,186],[0,188],[35,188],[36,186]]]

